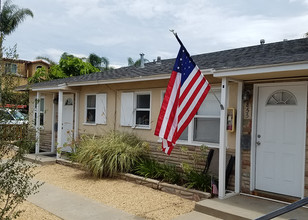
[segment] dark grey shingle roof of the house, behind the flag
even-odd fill
[[[263,65],[308,61],[308,38],[236,48],[192,56],[200,69],[226,70]],[[90,82],[171,74],[175,59],[162,60],[161,64],[146,63],[144,68],[134,66],[104,72],[40,82],[35,87],[53,87],[63,83]]]

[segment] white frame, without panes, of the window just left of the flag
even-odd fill
[[[133,128],[137,129],[151,129],[151,108],[152,108],[152,92],[151,91],[137,91],[134,93],[134,112],[133,112]],[[150,106],[149,108],[137,108],[137,96],[138,95],[149,95],[150,96]],[[137,111],[149,111],[149,124],[148,125],[140,125],[136,123],[137,119]]]

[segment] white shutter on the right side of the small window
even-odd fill
[[[95,110],[95,123],[107,123],[107,94],[96,95],[96,110]]]

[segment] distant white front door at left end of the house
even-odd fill
[[[73,123],[74,123],[74,95],[65,94],[63,95],[63,116],[62,116],[62,143],[64,146],[61,150],[71,152],[71,148],[65,146],[72,141]]]

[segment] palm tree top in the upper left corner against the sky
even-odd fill
[[[27,16],[33,17],[33,12],[28,8],[19,8],[12,4],[11,0],[6,0],[1,9],[0,0],[0,58],[3,56],[2,45],[5,36],[11,34],[17,26],[26,19]]]

